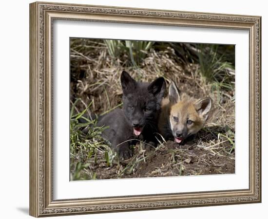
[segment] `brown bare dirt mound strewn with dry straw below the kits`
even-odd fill
[[[202,133],[200,133],[202,134]],[[132,161],[120,163],[121,168],[126,168],[123,175],[118,174],[120,168],[114,164],[107,167],[105,163],[97,163],[92,166],[96,172],[97,179],[116,178],[144,178],[144,177],[167,177],[167,176],[189,176],[189,175],[211,175],[211,174],[231,174],[235,173],[234,153],[230,150],[230,144],[224,142],[218,146],[208,148],[204,145],[196,144],[197,136],[187,141],[183,145],[168,141],[162,148],[155,151],[146,148],[144,152],[145,160],[135,164],[131,169],[128,167]],[[138,154],[139,148],[134,148],[134,154]]]

